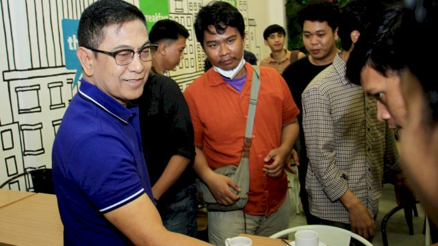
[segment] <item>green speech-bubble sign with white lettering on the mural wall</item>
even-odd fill
[[[167,0],[140,0],[140,10],[146,17],[148,31],[162,19],[169,18],[169,3]]]

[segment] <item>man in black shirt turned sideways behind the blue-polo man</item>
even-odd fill
[[[171,232],[197,236],[198,200],[194,185],[194,133],[181,88],[166,71],[183,59],[189,33],[174,20],[160,20],[149,40],[155,58],[138,105],[142,148],[153,198],[163,225]]]

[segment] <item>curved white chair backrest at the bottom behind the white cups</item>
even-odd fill
[[[296,226],[294,228],[288,228],[280,232],[276,232],[275,234],[272,234],[270,238],[280,238],[300,230],[313,230],[318,232],[320,242],[325,243],[326,245],[348,246],[350,245],[351,238],[355,238],[365,246],[372,246],[372,243],[368,242],[362,236],[359,236],[359,234],[355,234],[354,232],[337,228],[335,226],[325,225]]]

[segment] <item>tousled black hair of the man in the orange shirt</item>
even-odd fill
[[[244,17],[237,8],[224,1],[212,1],[196,14],[194,31],[201,46],[204,46],[204,31],[209,31],[209,25],[214,25],[220,34],[224,33],[227,27],[235,27],[242,38],[245,36]]]

